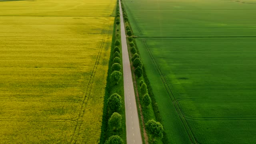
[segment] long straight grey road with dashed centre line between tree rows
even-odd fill
[[[120,24],[121,24],[121,40],[122,40],[122,57],[124,72],[124,102],[126,114],[126,139],[127,144],[142,144],[140,134],[140,123],[136,106],[134,87],[132,82],[132,71],[127,49],[126,33],[124,28],[124,18],[122,13],[121,2],[120,7]]]

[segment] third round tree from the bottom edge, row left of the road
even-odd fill
[[[110,108],[111,112],[117,112],[122,107],[122,98],[118,94],[112,94],[108,98],[108,107]]]

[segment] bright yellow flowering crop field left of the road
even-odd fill
[[[115,6],[0,2],[0,143],[99,142]]]

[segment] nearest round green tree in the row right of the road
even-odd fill
[[[154,138],[163,138],[164,127],[160,122],[149,120],[145,124],[146,130],[152,134]]]

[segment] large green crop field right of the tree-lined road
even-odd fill
[[[169,143],[256,141],[256,1],[123,0]]]

